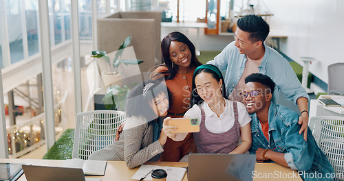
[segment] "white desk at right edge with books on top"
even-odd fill
[[[324,95],[321,95],[319,98],[322,98]],[[333,99],[343,98],[341,95],[325,95],[330,96]],[[310,118],[317,116],[334,116],[334,117],[344,117],[344,108],[336,106],[324,106],[321,104],[318,99],[310,100]]]

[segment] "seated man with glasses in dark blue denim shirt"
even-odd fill
[[[245,84],[240,95],[252,117],[250,154],[256,154],[258,162],[272,160],[298,170],[303,180],[334,180],[334,170],[312,132],[308,131],[307,141],[298,134],[299,115],[272,103],[275,83],[270,77],[253,73],[245,78]]]

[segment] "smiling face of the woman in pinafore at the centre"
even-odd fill
[[[222,100],[221,93],[222,80],[217,80],[211,73],[201,72],[195,77],[195,90],[198,95],[206,101],[207,104],[215,104],[218,100]]]

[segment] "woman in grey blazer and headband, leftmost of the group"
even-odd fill
[[[169,97],[169,90],[161,80],[135,86],[127,97],[127,122],[120,138],[91,154],[89,159],[125,161],[129,169],[158,161],[167,139],[162,119],[170,106]]]

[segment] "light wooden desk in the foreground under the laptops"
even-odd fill
[[[43,165],[43,166],[51,166],[51,167],[59,167],[63,164],[64,160],[39,160],[39,159],[0,159],[0,162],[14,162],[14,163],[25,163],[25,164],[32,164],[32,165]],[[187,167],[188,162],[147,162],[149,165],[161,165],[161,166],[169,166],[169,167]],[[135,169],[128,169],[125,162],[122,161],[109,161],[107,163],[107,169],[105,171],[105,176],[103,176],[102,181],[108,180],[131,180],[131,177],[136,173],[136,171],[140,167],[136,167]],[[301,180],[301,178],[285,178],[286,176],[298,176],[297,171],[293,171],[288,169],[287,167],[283,167],[278,165],[277,163],[256,163],[255,171],[257,178],[254,178],[254,181],[259,180]],[[260,174],[260,179],[258,178]],[[270,175],[268,175],[270,174]],[[263,176],[270,176],[270,179],[262,178]],[[87,176],[92,177],[92,176]],[[96,176],[93,176],[96,177]],[[284,179],[285,178],[285,179]],[[25,176],[21,176],[19,181],[25,181]],[[184,177],[183,181],[187,181],[187,174]]]

